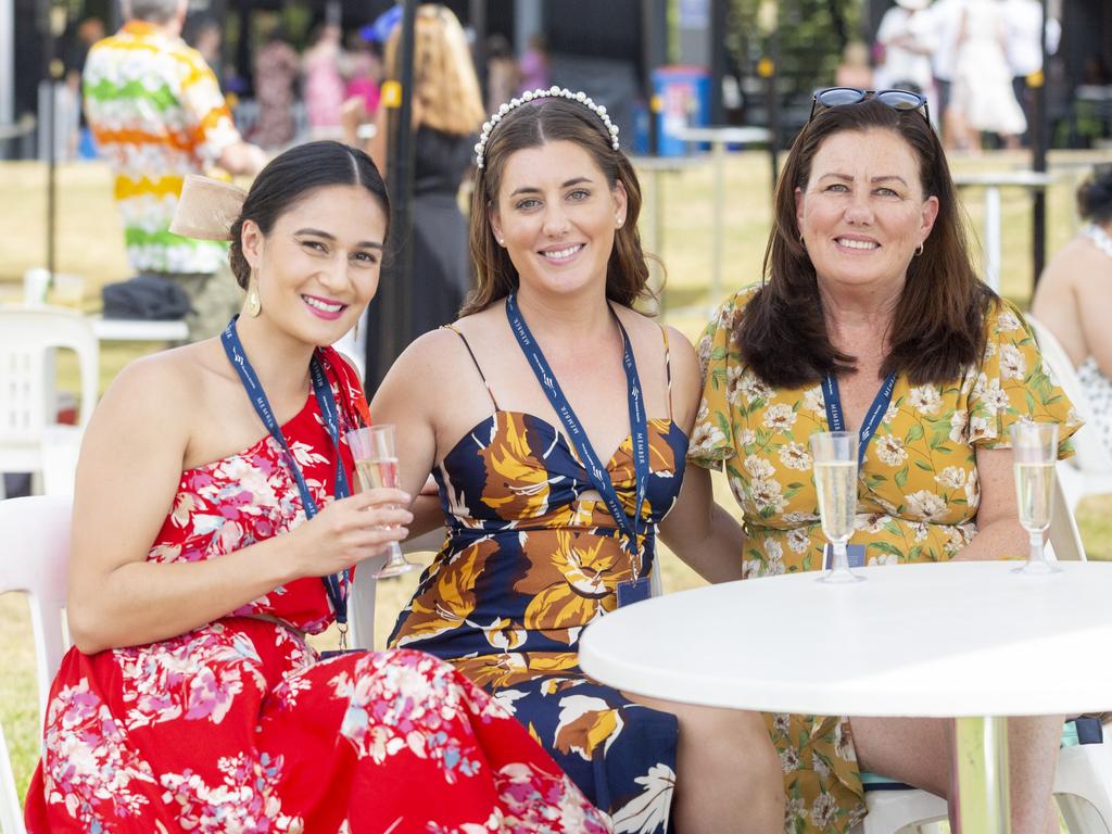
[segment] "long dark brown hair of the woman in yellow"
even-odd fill
[[[939,199],[939,216],[907,277],[891,324],[882,375],[903,373],[914,385],[961,377],[984,353],[984,316],[996,297],[970,260],[960,203],[946,156],[917,110],[873,99],[818,112],[795,138],[776,188],[765,248],[767,284],[746,305],[734,338],[745,363],[774,387],[796,388],[852,370],[855,358],[831,344],[815,268],[800,240],[795,190],[806,189],[822,143],[847,130],[891,130],[919,160],[923,197]]]

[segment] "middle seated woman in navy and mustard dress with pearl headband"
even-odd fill
[[[648,595],[657,523],[711,579],[741,577],[742,535],[708,473],[684,481],[698,363],[632,308],[648,267],[616,127],[582,92],[526,95],[476,146],[478,289],[373,405],[398,425],[401,483],[435,475],[448,528],[390,645],[490,691],[618,831],[778,834],[759,714],[627,695],[579,669],[583,628]]]

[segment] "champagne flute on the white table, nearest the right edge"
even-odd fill
[[[1031,536],[1027,564],[1017,574],[1056,574],[1062,568],[1046,559],[1043,533],[1054,507],[1054,464],[1058,460],[1056,423],[1016,423],[1012,426],[1012,459],[1020,524]]]

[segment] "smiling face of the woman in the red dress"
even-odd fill
[[[268,324],[312,345],[350,330],[378,289],[386,214],[363,186],[310,191],[269,235],[244,222],[244,257]]]

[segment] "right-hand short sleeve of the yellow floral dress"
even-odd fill
[[[984,360],[969,396],[970,444],[1011,448],[1009,430],[1022,419],[1059,425],[1059,458],[1073,454],[1070,437],[1082,426],[1035,342],[1031,327],[1012,304],[1000,301],[985,319]]]

